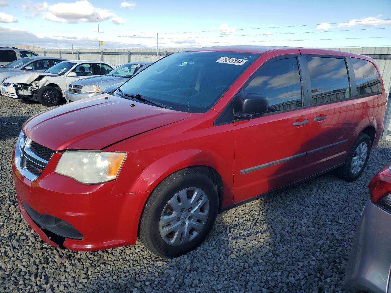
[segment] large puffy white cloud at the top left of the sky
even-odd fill
[[[42,13],[44,20],[63,23],[97,22],[98,18],[99,21],[105,21],[115,16],[111,10],[96,8],[88,0],[74,3],[60,2],[54,5],[48,5],[47,2],[36,4],[27,2],[22,9],[34,12],[34,16]]]

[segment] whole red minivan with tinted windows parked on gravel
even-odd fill
[[[13,154],[20,211],[55,247],[197,247],[217,213],[364,170],[386,96],[373,59],[226,46],[169,55],[117,90],[36,115]]]

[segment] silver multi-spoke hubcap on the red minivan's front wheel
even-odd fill
[[[159,231],[165,243],[178,246],[192,241],[204,228],[209,216],[209,199],[199,188],[185,188],[165,205]]]

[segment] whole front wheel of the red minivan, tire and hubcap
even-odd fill
[[[164,179],[148,198],[140,241],[161,257],[177,257],[201,244],[216,220],[219,199],[204,173],[184,169]]]

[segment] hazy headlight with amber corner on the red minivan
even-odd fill
[[[54,172],[85,184],[113,180],[121,169],[126,153],[66,151]]]

